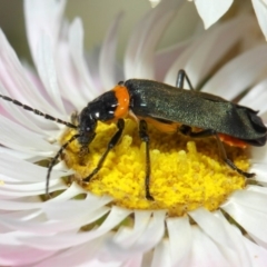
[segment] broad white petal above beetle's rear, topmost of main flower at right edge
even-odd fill
[[[267,47],[259,46],[225,65],[202,90],[233,99],[251,86],[267,67]],[[240,79],[241,77],[241,79]]]

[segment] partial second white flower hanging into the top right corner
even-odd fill
[[[221,16],[224,16],[234,3],[234,0],[189,0],[194,1],[199,16],[201,17],[205,28],[208,29]],[[267,39],[267,1],[251,0],[254,11],[257,16],[259,27]],[[247,7],[247,2],[240,1],[240,7]]]

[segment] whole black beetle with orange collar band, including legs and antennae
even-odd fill
[[[184,89],[185,80],[190,90]],[[98,121],[116,122],[117,131],[111,137],[97,167],[82,181],[85,184],[90,182],[91,178],[101,169],[109,151],[120,140],[125,128],[123,119],[131,116],[137,119],[139,137],[146,145],[145,190],[148,200],[154,200],[154,197],[149,190],[150,156],[147,123],[152,123],[161,131],[179,131],[191,138],[215,137],[224,161],[246,178],[251,178],[255,174],[237,168],[227,158],[222,142],[244,148],[247,145],[264,146],[267,138],[267,128],[260,117],[257,116],[258,111],[211,93],[194,90],[185,70],[179,70],[176,87],[146,79],[120,81],[113,89],[90,101],[77,116],[77,125],[42,113],[7,96],[0,95],[0,97],[46,119],[63,123],[78,131],[77,135],[73,135],[62,145],[49,165],[46,186],[47,195],[50,172],[60,155],[76,139],[81,146],[81,154],[88,152],[88,147],[96,137]],[[199,130],[195,130],[196,128]]]

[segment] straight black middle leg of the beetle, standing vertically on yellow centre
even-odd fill
[[[139,137],[146,144],[146,179],[145,179],[145,188],[146,188],[146,198],[148,200],[154,200],[154,197],[149,191],[149,181],[150,181],[150,156],[149,156],[149,136],[147,134],[147,122],[145,120],[140,120],[139,122]]]

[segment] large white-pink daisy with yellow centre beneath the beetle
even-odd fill
[[[194,87],[240,99],[266,120],[267,47],[257,43],[237,55],[241,32],[253,23],[249,16],[156,51],[181,3],[162,1],[144,17],[120,68],[115,57],[120,14],[99,52],[85,56],[81,20],[63,18],[65,1],[27,0],[34,68],[19,61],[0,32],[1,96],[75,123],[73,111],[119,80],[146,78],[175,85],[178,70],[185,69]],[[266,147],[226,145],[239,168],[257,174],[246,185],[221,162],[212,138],[191,140],[149,128],[155,197],[150,201],[144,188],[145,146],[136,122],[128,119],[98,176],[80,186],[116,131],[113,123],[99,123],[89,154],[78,156],[77,140],[63,150],[51,171],[51,199],[44,201],[49,159],[77,130],[3,99],[0,108],[1,266],[266,265]]]

